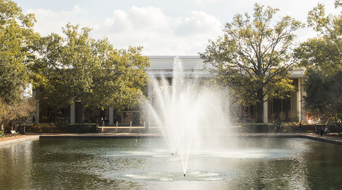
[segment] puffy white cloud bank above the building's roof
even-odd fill
[[[191,11],[186,18],[170,17],[155,6],[131,6],[127,11],[114,10],[113,16],[99,19],[79,5],[71,11],[28,10],[36,14],[36,31],[46,36],[62,35],[68,22],[93,28],[95,39],[107,37],[115,48],[144,46],[145,55],[196,55],[204,51],[209,38],[222,35],[222,25],[214,16]]]

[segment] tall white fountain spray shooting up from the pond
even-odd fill
[[[174,58],[172,84],[167,79],[152,78],[149,113],[167,141],[171,155],[178,151],[184,176],[189,155],[212,144],[213,135],[229,128],[227,90],[203,76],[187,76],[182,61]],[[209,141],[209,138],[211,139]]]

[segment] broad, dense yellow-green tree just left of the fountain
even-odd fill
[[[67,24],[65,38],[52,33],[36,41],[39,54],[30,65],[38,99],[55,110],[78,103],[77,122],[84,122],[84,106],[117,109],[134,106],[142,95],[148,57],[142,47],[116,50],[106,38],[95,41],[90,28]]]

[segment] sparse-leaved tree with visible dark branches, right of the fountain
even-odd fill
[[[224,36],[209,40],[203,62],[212,66],[221,81],[234,85],[246,105],[257,104],[257,122],[263,122],[263,103],[268,98],[286,97],[294,88],[290,71],[297,62],[292,58],[294,31],[301,22],[284,16],[273,21],[279,11],[255,4],[253,19],[237,14],[226,23]]]

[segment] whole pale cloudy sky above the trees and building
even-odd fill
[[[334,0],[14,0],[24,13],[34,13],[36,32],[63,35],[72,25],[92,28],[94,39],[108,38],[115,49],[143,46],[143,55],[198,55],[209,39],[222,36],[225,23],[235,14],[250,15],[255,3],[279,8],[274,16],[305,23],[318,2],[326,12],[338,14]],[[297,42],[314,37],[312,28],[297,31]]]

